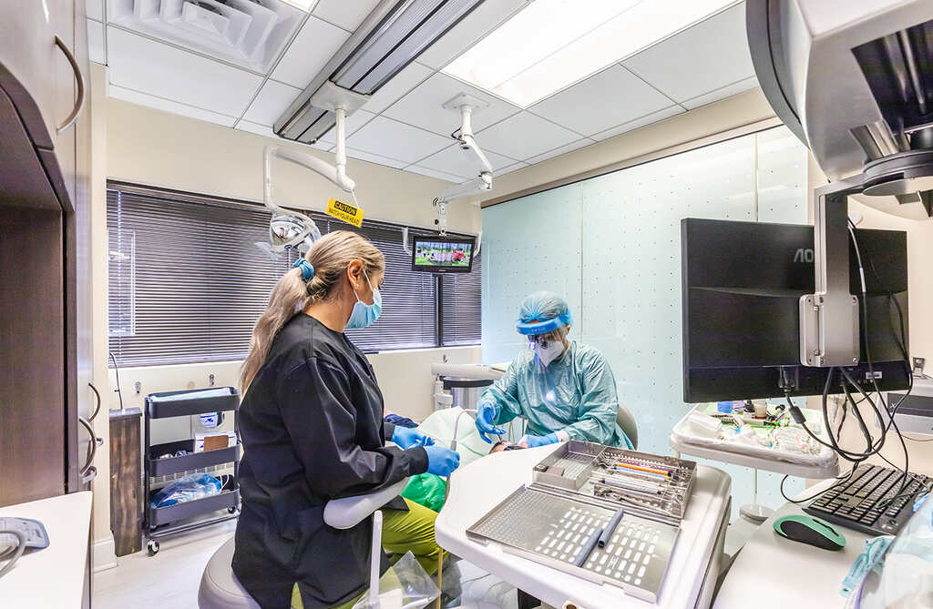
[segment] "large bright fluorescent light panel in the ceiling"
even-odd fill
[[[442,72],[528,107],[736,0],[535,0]]]

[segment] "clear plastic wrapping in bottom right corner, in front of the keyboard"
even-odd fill
[[[918,500],[916,513],[849,596],[850,609],[933,607],[933,501]]]

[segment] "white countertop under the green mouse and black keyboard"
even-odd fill
[[[794,499],[809,497],[834,481],[824,480]],[[803,510],[785,504],[745,543],[719,588],[715,609],[744,609],[752,598],[755,609],[845,606],[847,599],[839,593],[842,579],[865,549],[869,535],[841,528],[845,547],[838,551],[801,544],[774,532],[774,520],[791,514],[803,514]],[[762,590],[773,593],[762,594]]]

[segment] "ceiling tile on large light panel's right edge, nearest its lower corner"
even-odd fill
[[[528,109],[592,135],[671,104],[666,95],[617,63]]]

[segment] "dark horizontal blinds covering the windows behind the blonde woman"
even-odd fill
[[[385,256],[382,316],[369,328],[346,331],[360,349],[480,342],[479,261],[468,274],[415,272],[402,227],[368,220],[355,228],[302,213],[322,233],[353,230]],[[244,359],[272,287],[295,260],[294,254],[273,260],[258,250],[254,243],[267,239],[268,227],[268,211],[253,203],[108,185],[109,334],[118,364]],[[429,231],[412,229],[415,234]]]

